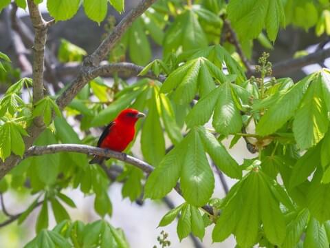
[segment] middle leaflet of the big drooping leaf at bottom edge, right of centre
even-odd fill
[[[241,186],[243,208],[241,218],[235,228],[236,241],[241,247],[251,247],[256,242],[259,231],[259,174],[250,172]]]

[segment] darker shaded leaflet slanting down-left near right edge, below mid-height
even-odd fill
[[[290,188],[294,188],[300,183],[303,183],[307,177],[314,171],[320,163],[320,145],[309,149],[303,156],[301,156],[294,168],[290,178]]]

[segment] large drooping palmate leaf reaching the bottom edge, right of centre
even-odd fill
[[[221,203],[221,215],[212,232],[213,241],[221,242],[234,234],[241,247],[251,247],[257,242],[262,223],[267,240],[281,245],[286,234],[285,220],[274,195],[278,189],[272,189],[272,183],[273,180],[258,169],[236,183]]]

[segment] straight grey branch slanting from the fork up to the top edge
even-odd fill
[[[142,0],[133,10],[120,21],[111,34],[105,38],[100,46],[87,57],[85,63],[88,66],[98,66],[100,62],[109,54],[115,43],[120,40],[124,32],[131,26],[133,21],[140,17],[156,0]]]

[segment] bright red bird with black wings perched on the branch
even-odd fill
[[[138,112],[134,109],[122,110],[120,114],[111,121],[102,132],[98,140],[98,147],[111,149],[116,152],[122,152],[126,149],[127,145],[133,141],[135,135],[135,123],[145,114]],[[102,163],[104,157],[94,156],[90,164]]]

